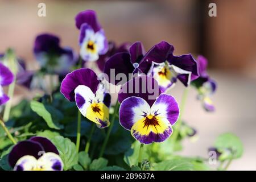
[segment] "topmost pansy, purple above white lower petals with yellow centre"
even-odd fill
[[[98,23],[96,12],[81,11],[76,15],[76,27],[80,30],[80,56],[84,61],[96,61],[108,51],[108,41]]]

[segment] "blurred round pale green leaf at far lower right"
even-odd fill
[[[243,144],[240,138],[232,133],[218,136],[214,147],[222,153],[219,158],[220,160],[241,158],[243,154]]]

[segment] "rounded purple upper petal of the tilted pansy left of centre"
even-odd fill
[[[100,83],[98,81],[96,73],[89,68],[77,69],[69,73],[61,82],[60,92],[69,101],[75,101],[74,90],[79,85],[88,86],[93,93],[96,93],[97,86]]]

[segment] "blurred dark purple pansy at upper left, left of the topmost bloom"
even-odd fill
[[[41,34],[36,37],[34,55],[47,73],[66,75],[71,71],[78,56],[69,47],[60,47],[60,39],[52,34]]]

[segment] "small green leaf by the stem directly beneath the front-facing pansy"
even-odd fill
[[[141,147],[141,143],[135,141],[133,144],[131,144],[130,150],[125,152],[123,160],[126,164],[128,164],[128,166],[131,167],[138,165],[139,147]]]

